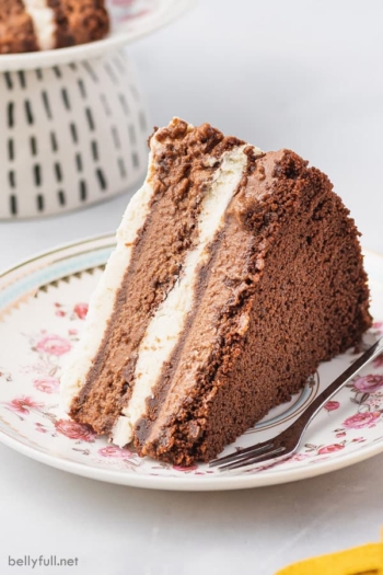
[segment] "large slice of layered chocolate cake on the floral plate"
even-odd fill
[[[62,377],[77,422],[141,456],[208,461],[370,326],[348,210],[289,150],[174,118]]]

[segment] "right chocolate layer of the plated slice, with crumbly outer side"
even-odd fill
[[[217,456],[361,337],[365,279],[327,177],[290,151],[256,160],[137,426],[139,452],[186,465]]]

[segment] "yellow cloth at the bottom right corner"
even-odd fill
[[[300,561],[276,575],[383,575],[383,542]]]

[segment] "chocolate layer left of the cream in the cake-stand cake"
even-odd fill
[[[1,0],[0,54],[38,49],[33,23],[22,0]]]

